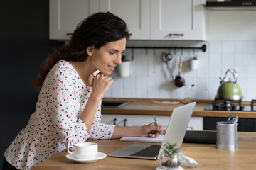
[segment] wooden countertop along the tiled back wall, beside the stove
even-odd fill
[[[171,115],[174,108],[182,106],[181,100],[179,104],[157,104],[152,101],[173,101],[164,99],[131,99],[131,98],[104,98],[107,101],[132,101],[122,108],[102,108],[103,114],[124,114],[124,115]],[[212,101],[196,101],[196,107],[192,116],[202,117],[228,117],[231,113],[239,118],[256,118],[256,111],[205,111],[204,108],[211,104]],[[248,101],[243,101],[248,105]]]

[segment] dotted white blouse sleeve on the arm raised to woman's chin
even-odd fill
[[[85,142],[88,132],[85,123],[77,117],[74,79],[66,72],[55,72],[49,94],[48,106],[63,143],[68,146],[69,142]]]

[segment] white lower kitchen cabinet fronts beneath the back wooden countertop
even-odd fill
[[[169,115],[157,115],[158,122],[167,128]],[[152,115],[102,114],[102,123],[118,126],[142,126],[154,122]],[[203,117],[192,117],[187,130],[203,130]]]

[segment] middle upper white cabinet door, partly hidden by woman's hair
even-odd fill
[[[100,0],[100,11],[110,11],[127,23],[130,39],[149,40],[150,1],[149,0]]]

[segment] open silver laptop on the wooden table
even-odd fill
[[[162,147],[166,142],[171,144],[176,143],[177,147],[181,147],[186,129],[188,128],[189,120],[191,119],[191,115],[193,113],[193,108],[195,108],[195,106],[196,102],[193,102],[174,108],[161,145],[134,143],[119,149],[116,152],[107,154],[107,156],[137,159],[159,159],[160,155],[164,153],[164,149],[162,149]]]

